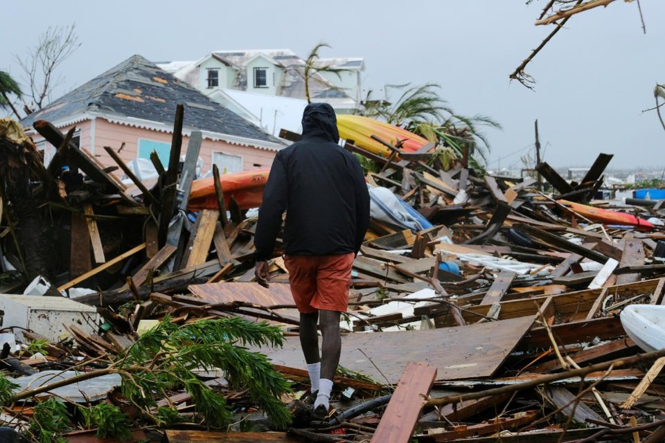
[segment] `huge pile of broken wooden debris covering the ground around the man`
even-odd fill
[[[546,191],[535,179],[482,175],[465,159],[444,170],[432,146],[406,153],[382,141],[393,152],[384,158],[347,141],[369,160],[369,185],[403,201],[419,228],[389,213],[372,220],[341,324],[335,411],[312,423],[281,243],[265,289],[253,282],[256,219],[221,186],[217,210],[186,210],[197,137],[179,170],[181,121],[179,109],[169,164],[152,159],[159,179],[127,174],[133,188],[46,122],[35,129],[59,147],[46,168],[30,141],[0,134],[2,292],[20,293],[41,275],[42,298],[65,291],[99,316],[91,329],[57,317],[55,340],[38,323],[3,323],[19,341],[3,342],[7,376],[78,377],[57,381],[77,392],[56,394],[70,422],[53,435],[99,441],[125,428],[134,429],[128,441],[168,442],[663,440],[665,344],[642,349],[621,321],[628,306],[657,313],[665,304],[662,213],[659,204],[593,199],[612,156],[598,156],[580,183],[538,165]],[[379,208],[381,198],[373,196]],[[28,258],[35,244],[52,248],[37,268]],[[197,354],[220,343],[235,366]],[[250,358],[242,352],[258,359],[254,379],[267,377],[271,390],[258,395],[252,377],[238,383],[234,368]],[[186,371],[173,372],[179,365]],[[107,375],[119,379],[87,384]],[[36,439],[50,429],[40,405],[54,390],[33,384],[2,397],[0,383],[0,418]],[[209,406],[220,398],[229,416],[215,422]],[[123,425],[76,413],[74,404],[113,406],[120,413],[109,416]],[[292,424],[279,428],[286,406]]]

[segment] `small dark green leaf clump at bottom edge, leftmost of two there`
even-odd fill
[[[71,416],[63,401],[51,397],[35,406],[28,432],[35,442],[64,443],[61,434],[71,428]]]

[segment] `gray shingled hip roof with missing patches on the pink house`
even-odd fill
[[[283,144],[141,55],[133,55],[30,114],[21,124],[26,127],[35,120],[58,122],[91,111],[172,125],[179,103],[185,107],[184,127]]]

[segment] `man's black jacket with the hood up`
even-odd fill
[[[357,253],[369,226],[369,193],[355,156],[337,145],[337,118],[327,103],[303,113],[303,138],[277,153],[254,235],[256,260],[272,257],[286,210],[285,253]]]

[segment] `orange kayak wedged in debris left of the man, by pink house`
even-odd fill
[[[220,176],[224,204],[229,208],[231,197],[238,202],[240,209],[258,208],[263,199],[263,188],[268,181],[270,170],[237,172],[236,174],[223,174]],[[192,182],[189,192],[187,209],[197,211],[201,209],[217,209],[217,196],[215,195],[215,179],[208,177]]]

